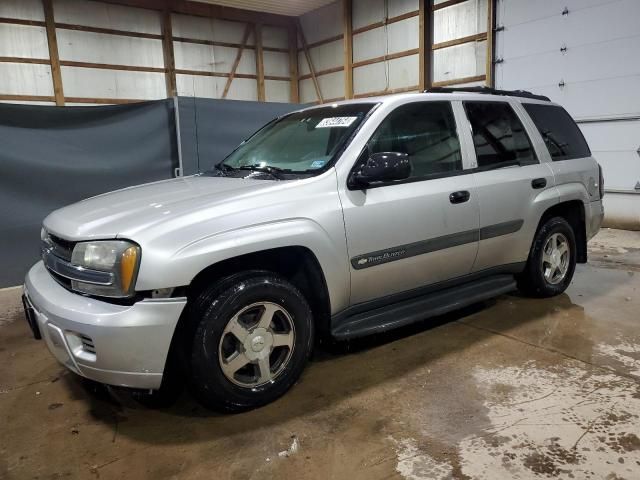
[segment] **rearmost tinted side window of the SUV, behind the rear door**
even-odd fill
[[[525,103],[523,107],[536,124],[552,160],[591,156],[582,132],[564,108],[535,103]]]

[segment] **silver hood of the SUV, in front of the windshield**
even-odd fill
[[[45,228],[68,240],[132,238],[137,232],[199,209],[281,187],[285,181],[192,176],[91,197],[51,213]]]

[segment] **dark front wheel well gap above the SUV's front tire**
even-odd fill
[[[331,316],[329,290],[318,259],[306,247],[262,250],[210,265],[193,279],[187,288],[187,298],[191,300],[203,288],[244,270],[268,270],[282,275],[295,285],[309,302],[319,337],[328,333]]]

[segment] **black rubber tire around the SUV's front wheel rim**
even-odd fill
[[[190,343],[189,380],[194,395],[204,406],[225,412],[250,410],[276,400],[298,380],[312,352],[314,323],[306,299],[291,283],[270,272],[241,272],[205,288],[194,300],[189,313],[195,327]],[[224,373],[221,340],[224,336],[226,342],[230,335],[225,334],[230,320],[242,309],[259,302],[281,307],[277,315],[286,316],[294,335],[292,348],[284,347],[290,353],[285,354],[287,360],[282,360],[282,370],[277,376],[249,388],[234,383]],[[260,318],[259,312],[256,318]],[[276,315],[273,318],[275,322]],[[235,336],[232,341],[240,344],[237,348],[244,349]],[[254,367],[259,374],[259,366],[253,363],[243,368]]]

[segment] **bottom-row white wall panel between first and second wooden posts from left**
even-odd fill
[[[166,98],[164,73],[62,67],[64,94],[68,97]]]

